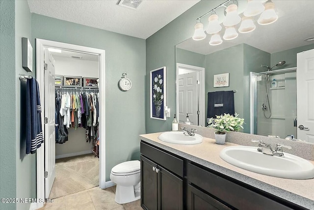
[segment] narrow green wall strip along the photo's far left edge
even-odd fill
[[[16,197],[15,1],[0,1],[0,198]],[[16,204],[0,203],[2,210]]]

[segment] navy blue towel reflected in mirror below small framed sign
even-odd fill
[[[216,91],[208,93],[207,121],[224,113],[235,114],[234,91]]]

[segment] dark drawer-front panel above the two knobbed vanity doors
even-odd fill
[[[183,160],[169,153],[141,142],[141,154],[155,161],[169,171],[183,177]]]

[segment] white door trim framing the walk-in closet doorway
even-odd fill
[[[63,50],[71,50],[81,53],[88,53],[99,56],[99,92],[100,92],[100,139],[102,140],[99,145],[99,186],[102,189],[105,189],[105,50],[84,47],[79,45],[67,44],[62,42],[55,42],[45,39],[36,39],[36,80],[39,84],[40,93],[44,92],[44,48],[58,48]],[[40,102],[44,104],[44,94],[41,94]],[[42,113],[45,113],[45,107],[42,107]],[[44,118],[42,117],[42,127],[44,127]],[[44,135],[45,136],[45,135]],[[45,199],[45,178],[44,178],[44,148],[40,147],[37,149],[37,199]],[[40,201],[39,200],[39,201]],[[37,207],[43,207],[44,203],[38,203]]]

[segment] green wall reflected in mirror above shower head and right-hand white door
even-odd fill
[[[314,44],[309,44],[302,47],[293,48],[290,50],[284,50],[281,52],[272,53],[271,59],[270,59],[271,66],[278,63],[279,61],[286,60],[285,65],[277,67],[277,68],[274,67],[274,69],[296,67],[296,54],[303,51],[311,50],[311,49],[314,49]]]

